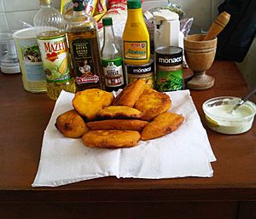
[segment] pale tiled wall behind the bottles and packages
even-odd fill
[[[194,17],[196,30],[207,31],[212,20],[218,14],[218,4],[223,0],[173,0],[183,6],[188,16]],[[167,0],[144,0],[144,2],[167,2]],[[56,9],[61,0],[53,0]],[[39,0],[0,0],[0,32],[11,32],[22,28],[22,21],[32,25],[34,15],[39,9]]]

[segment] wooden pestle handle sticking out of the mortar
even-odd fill
[[[229,13],[224,11],[223,13],[218,14],[218,17],[213,21],[212,26],[210,27],[206,37],[204,37],[203,40],[210,40],[216,37],[218,33],[222,32],[222,30],[228,24],[229,21],[230,21]]]

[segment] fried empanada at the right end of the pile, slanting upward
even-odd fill
[[[183,123],[183,116],[173,112],[164,112],[148,123],[141,133],[142,140],[149,140],[171,133]]]

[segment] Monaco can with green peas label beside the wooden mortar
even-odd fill
[[[183,89],[183,49],[175,46],[155,50],[156,89],[172,91]]]

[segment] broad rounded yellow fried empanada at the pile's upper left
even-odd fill
[[[88,120],[96,118],[96,113],[108,107],[113,101],[113,94],[102,89],[85,89],[73,98],[73,107]]]

